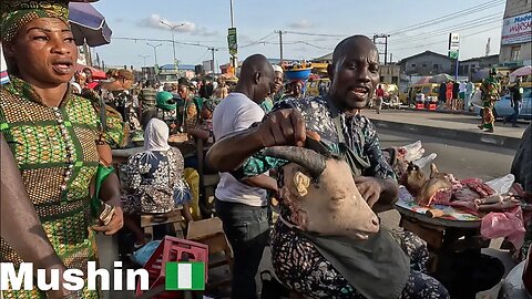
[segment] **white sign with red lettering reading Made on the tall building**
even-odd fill
[[[525,42],[532,42],[532,12],[504,19],[501,44]]]

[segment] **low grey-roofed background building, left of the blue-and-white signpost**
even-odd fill
[[[401,59],[397,65],[400,73],[407,75],[454,74],[456,60],[432,51]]]

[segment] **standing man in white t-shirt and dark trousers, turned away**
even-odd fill
[[[264,111],[259,105],[273,85],[274,69],[266,58],[260,54],[247,58],[235,91],[214,110],[215,140],[262,122]],[[216,212],[235,254],[232,298],[248,299],[256,298],[255,275],[269,235],[267,192],[254,186],[276,192],[277,182],[267,174],[244,182],[237,177],[236,174],[221,173],[215,193]]]

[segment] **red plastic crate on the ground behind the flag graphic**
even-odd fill
[[[205,283],[207,282],[208,246],[191,240],[165,236],[157,249],[144,265],[150,277],[150,290],[141,290],[136,285],[136,298],[183,298],[183,291],[165,291],[165,267],[167,261],[203,261],[205,262]]]

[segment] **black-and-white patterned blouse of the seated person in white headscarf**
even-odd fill
[[[180,150],[142,152],[130,157],[126,166],[129,213],[168,213],[176,203],[190,199],[185,179],[184,159]],[[135,198],[137,197],[137,198]]]

